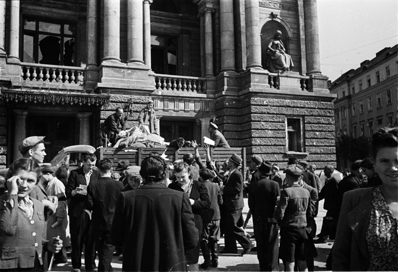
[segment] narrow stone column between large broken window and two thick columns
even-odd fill
[[[97,0],[87,1],[87,66],[97,66]]]

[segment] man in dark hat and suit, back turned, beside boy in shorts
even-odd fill
[[[253,215],[253,229],[256,236],[257,259],[260,271],[279,271],[278,264],[278,221],[273,218],[279,184],[269,179],[272,174],[270,162],[258,167],[260,179],[249,184],[249,208]]]

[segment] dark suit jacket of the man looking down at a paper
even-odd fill
[[[90,182],[98,179],[98,170],[93,170],[93,174],[90,177]],[[68,184],[65,187],[66,197],[70,199],[68,215],[73,217],[80,217],[84,210],[84,201],[86,196],[77,194],[72,195],[72,191],[80,185],[87,185],[86,177],[84,175],[83,167],[76,170],[72,170],[68,178]]]

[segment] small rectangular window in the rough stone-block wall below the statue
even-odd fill
[[[287,151],[304,152],[302,124],[301,117],[286,118]]]

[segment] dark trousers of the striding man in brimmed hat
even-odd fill
[[[243,249],[250,247],[252,243],[249,238],[246,237],[243,228],[237,226],[237,223],[242,215],[242,209],[225,209],[223,213],[224,217],[224,239],[225,248],[230,251],[237,251],[236,241],[243,247]]]

